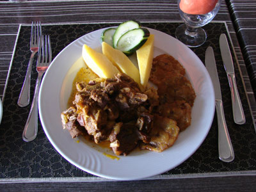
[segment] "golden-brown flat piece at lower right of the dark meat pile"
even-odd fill
[[[151,138],[150,142],[141,143],[140,148],[162,152],[175,143],[179,136],[179,127],[174,120],[156,115],[149,136]]]

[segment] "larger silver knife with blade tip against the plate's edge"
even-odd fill
[[[218,148],[219,158],[224,162],[231,162],[234,160],[234,150],[228,134],[227,124],[225,120],[223,102],[221,98],[220,81],[216,68],[214,52],[212,47],[207,47],[205,52],[205,67],[207,68],[215,93],[215,107],[218,118]]]

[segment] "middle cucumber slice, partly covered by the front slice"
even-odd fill
[[[113,35],[113,47],[116,48],[120,36],[124,35],[124,33],[126,33],[127,31],[136,28],[140,28],[140,23],[136,20],[128,20],[120,24],[116,29],[115,34]]]

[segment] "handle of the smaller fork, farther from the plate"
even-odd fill
[[[25,77],[25,80],[24,80],[24,83],[23,83],[23,86],[22,86],[22,89],[20,92],[19,99],[18,99],[18,106],[20,106],[22,108],[29,105],[31,70],[32,70],[32,63],[33,63],[35,54],[36,54],[36,52],[33,51],[30,56],[26,77]]]

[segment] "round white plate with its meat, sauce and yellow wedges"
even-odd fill
[[[133,54],[131,47],[122,50],[136,67],[131,75],[127,65],[115,63],[118,73],[109,77],[97,71],[100,66],[91,66],[99,61],[94,54],[105,60],[105,49],[112,50],[100,42],[105,31],[69,44],[45,73],[39,113],[47,138],[74,166],[108,179],[143,179],[179,166],[200,147],[214,117],[214,90],[204,64],[179,40],[147,28],[143,44],[154,35],[148,77],[147,71],[141,74],[148,64],[141,68],[139,61],[144,45]],[[137,70],[143,76],[139,80],[131,77]]]

